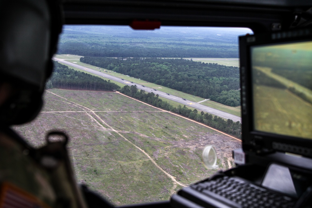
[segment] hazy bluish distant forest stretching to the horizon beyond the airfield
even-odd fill
[[[235,29],[162,27],[134,31],[129,27],[65,26],[58,54],[98,57],[238,58]]]

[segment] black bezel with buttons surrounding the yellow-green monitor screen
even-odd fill
[[[251,47],[312,41],[312,30],[301,29],[239,37],[241,69],[242,147],[245,152],[289,152],[312,158],[312,139],[262,132],[254,129]]]

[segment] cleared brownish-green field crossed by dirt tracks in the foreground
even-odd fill
[[[217,171],[202,165],[207,144],[215,146],[221,169],[232,167],[232,149],[240,147],[210,128],[118,93],[51,89],[44,99],[37,119],[14,129],[35,147],[45,143],[46,131],[66,131],[77,181],[115,205],[168,200],[180,184]]]

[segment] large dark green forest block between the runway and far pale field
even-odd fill
[[[228,106],[241,104],[238,67],[162,58],[81,57],[80,61]]]

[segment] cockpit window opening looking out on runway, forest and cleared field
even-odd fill
[[[14,129],[35,147],[48,130],[65,131],[77,181],[114,205],[168,200],[235,165],[238,36],[246,33],[252,31],[66,25],[45,105]],[[207,169],[202,151],[209,145],[217,160]]]

